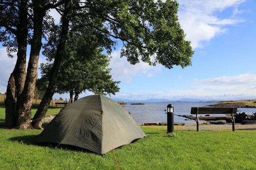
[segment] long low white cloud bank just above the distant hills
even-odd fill
[[[256,99],[256,74],[240,74],[212,79],[194,79],[189,88],[163,89],[141,93],[119,92],[113,98],[122,99]]]

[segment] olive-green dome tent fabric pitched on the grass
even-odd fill
[[[125,108],[106,96],[92,95],[64,108],[34,142],[68,144],[105,154],[145,136]]]

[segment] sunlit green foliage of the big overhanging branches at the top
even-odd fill
[[[160,63],[166,68],[191,65],[193,55],[190,42],[180,28],[175,0],[90,0],[73,2],[70,21],[70,37],[87,31],[80,39],[87,41],[87,48],[77,53],[88,54],[91,49],[104,47],[108,53],[121,40],[121,57],[131,64],[140,61],[149,65]],[[54,58],[60,28],[55,26],[43,54],[51,61]],[[79,42],[79,40],[76,40]],[[79,45],[79,44],[78,44]],[[72,48],[72,47],[71,47]],[[73,50],[71,50],[73,51]]]

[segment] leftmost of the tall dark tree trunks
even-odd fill
[[[15,68],[9,78],[6,89],[6,122],[7,128],[13,128],[16,125],[17,114],[16,107],[20,105],[20,96],[23,91],[26,78],[26,48],[28,36],[28,20],[27,20],[27,3],[28,0],[21,0],[21,5],[18,7],[19,23],[17,24],[16,38],[17,38],[17,61]],[[17,103],[15,102],[17,97]]]

